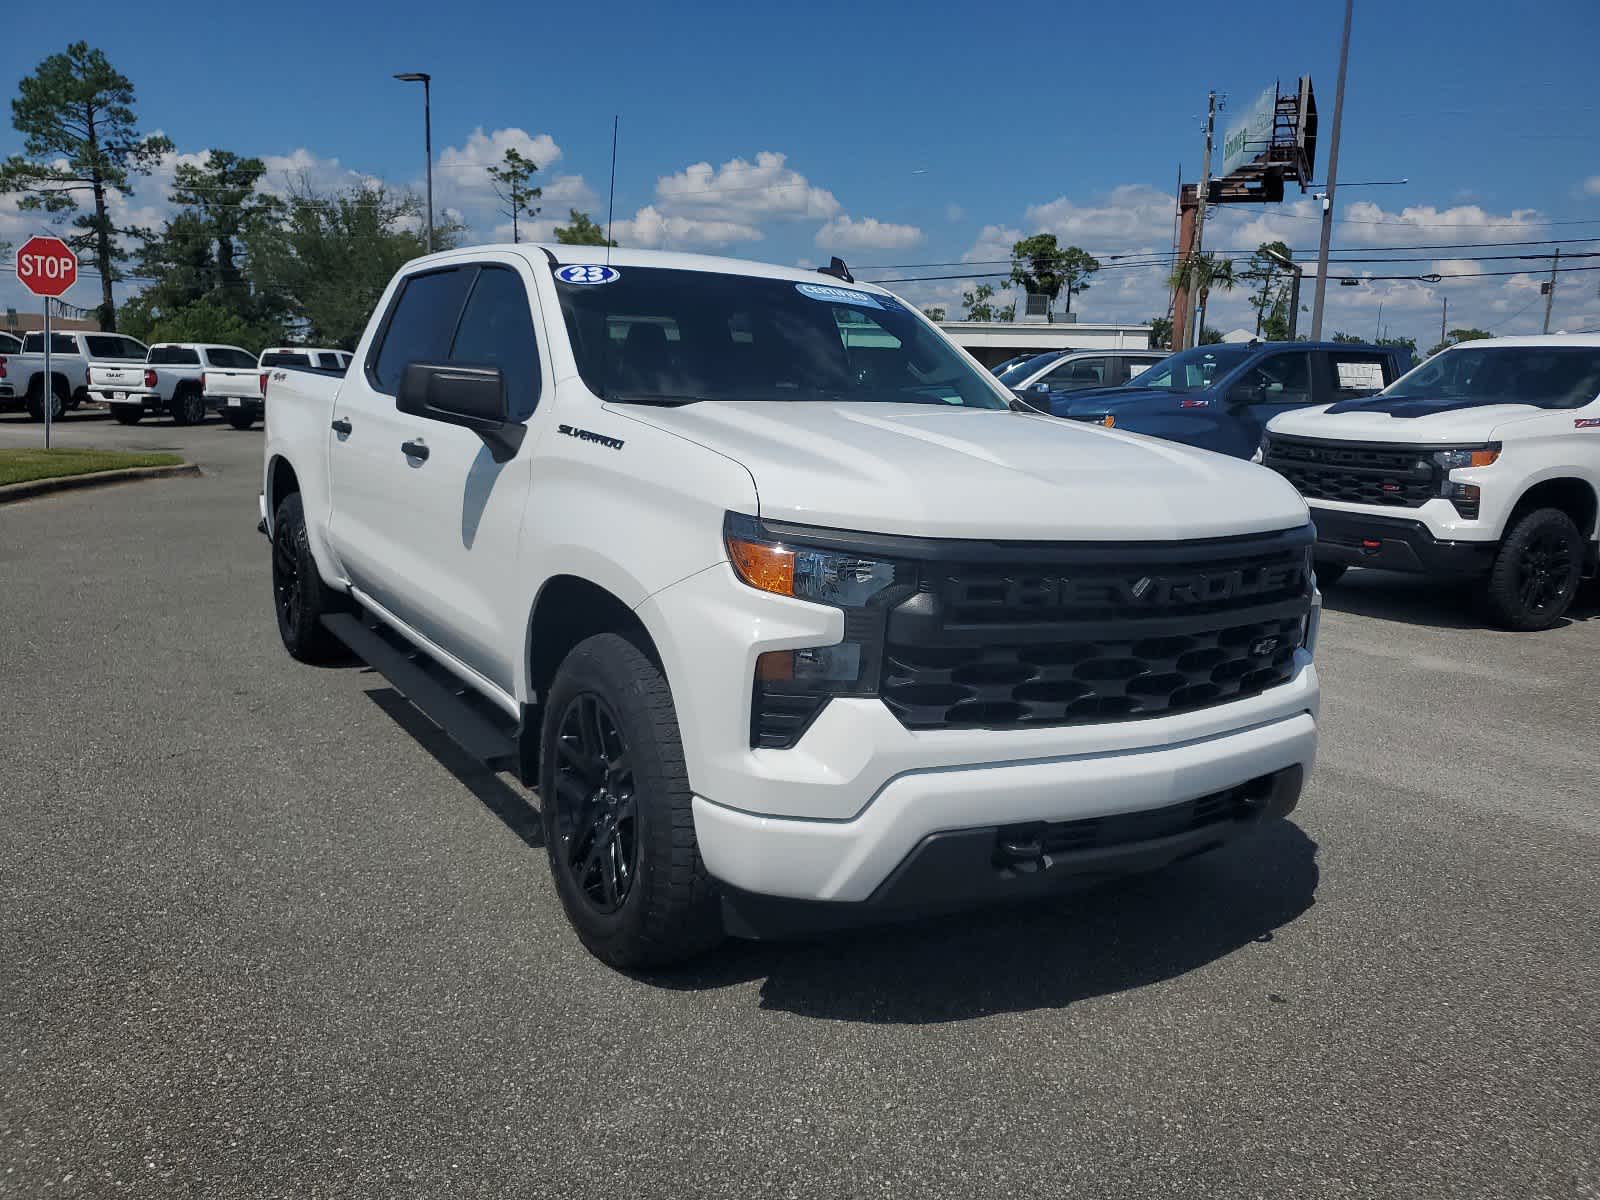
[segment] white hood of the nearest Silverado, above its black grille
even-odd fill
[[[1224,538],[1307,520],[1275,472],[1032,413],[810,402],[614,408],[744,464],[770,520],[1040,541]]]

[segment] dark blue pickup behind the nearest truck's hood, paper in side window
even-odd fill
[[[1411,354],[1394,346],[1197,346],[1163,358],[1122,387],[1051,392],[1050,411],[1250,458],[1267,421],[1278,413],[1371,395],[1408,370]]]

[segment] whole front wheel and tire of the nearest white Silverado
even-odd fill
[[[722,941],[691,798],[666,677],[616,634],[581,642],[544,709],[539,808],[562,907],[602,962],[659,966]]]

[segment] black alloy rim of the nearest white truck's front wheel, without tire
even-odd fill
[[[632,757],[611,706],[592,691],[574,696],[555,749],[557,861],[595,912],[616,912],[638,870],[638,805]]]

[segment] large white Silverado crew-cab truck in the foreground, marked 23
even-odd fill
[[[1013,405],[837,259],[453,250],[267,390],[285,646],[538,787],[610,963],[1160,867],[1310,770],[1294,490]]]

